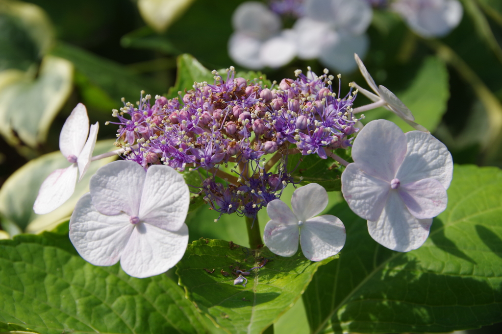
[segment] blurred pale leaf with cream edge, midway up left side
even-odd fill
[[[46,56],[40,69],[0,73],[0,133],[11,144],[45,142],[49,127],[72,90],[73,66]],[[18,139],[19,138],[19,139]]]

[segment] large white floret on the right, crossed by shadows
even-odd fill
[[[379,119],[364,126],[352,145],[353,163],[342,174],[350,209],[367,220],[371,237],[392,250],[417,249],[432,218],[446,209],[453,160],[431,134],[406,134]]]

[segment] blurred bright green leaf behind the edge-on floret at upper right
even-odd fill
[[[394,93],[412,111],[415,122],[433,132],[446,112],[450,96],[446,65],[436,57],[426,58],[411,85],[405,91]],[[414,130],[395,113],[384,108],[365,112],[364,115],[364,123],[385,118],[398,124],[405,132]]]

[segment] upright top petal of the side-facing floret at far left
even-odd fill
[[[84,147],[88,133],[89,117],[87,117],[87,109],[82,103],[79,103],[64,122],[59,134],[61,153],[66,158],[70,155],[77,157]]]

